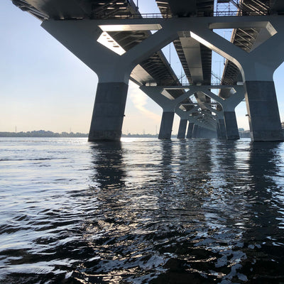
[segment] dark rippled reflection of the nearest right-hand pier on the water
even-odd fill
[[[280,145],[280,143],[265,143],[264,147],[259,143],[251,145],[248,198],[253,211],[251,225],[256,239],[273,238],[272,235],[278,237],[280,234],[278,226],[281,216],[278,211],[283,204],[275,198],[281,195],[283,190],[283,180],[282,185],[276,183],[279,175],[283,177],[279,167],[283,163],[279,155]]]

